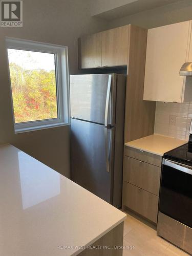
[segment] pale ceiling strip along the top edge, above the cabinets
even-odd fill
[[[113,20],[181,0],[93,0],[92,16]]]

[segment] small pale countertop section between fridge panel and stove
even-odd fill
[[[185,143],[187,143],[185,140],[153,134],[138,140],[127,142],[125,143],[125,146],[131,146],[137,148],[138,150],[143,150],[148,153],[163,156],[165,152],[173,150],[174,148]]]

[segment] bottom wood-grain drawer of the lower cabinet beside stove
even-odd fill
[[[123,182],[123,205],[157,223],[159,197],[126,181]]]

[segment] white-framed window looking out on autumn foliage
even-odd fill
[[[15,133],[69,124],[67,47],[6,38]]]

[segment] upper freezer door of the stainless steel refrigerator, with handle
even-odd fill
[[[71,117],[113,125],[115,122],[115,79],[114,74],[71,75]]]

